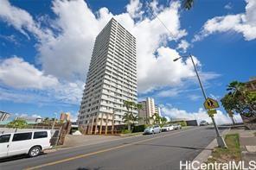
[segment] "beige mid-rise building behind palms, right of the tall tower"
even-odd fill
[[[150,117],[155,113],[161,116],[160,108],[155,104],[154,98],[146,98],[145,101],[138,103],[143,106],[142,110],[138,110],[138,116],[141,117],[138,124],[152,124],[154,121]]]

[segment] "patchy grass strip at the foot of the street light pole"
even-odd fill
[[[212,155],[208,158],[208,163],[241,161],[239,134],[226,135],[225,142],[227,148],[214,148]]]

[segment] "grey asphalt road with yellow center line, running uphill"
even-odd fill
[[[35,158],[0,160],[0,169],[178,170],[180,161],[192,161],[214,137],[208,127],[135,136]]]

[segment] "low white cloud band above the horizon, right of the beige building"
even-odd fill
[[[197,112],[187,112],[186,110],[179,110],[173,106],[166,104],[161,107],[162,115],[169,116],[171,118],[185,118],[189,120],[197,120],[200,123],[202,120],[212,123],[211,118],[208,116],[207,112],[200,108]],[[224,114],[221,110],[217,110],[217,114],[214,115],[215,122],[217,124],[232,123],[231,118]],[[235,120],[237,123],[241,123],[240,115],[235,115]]]

